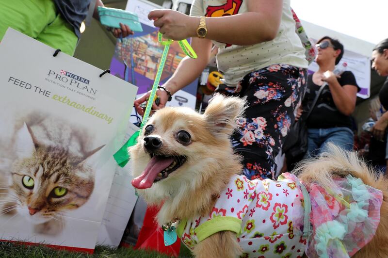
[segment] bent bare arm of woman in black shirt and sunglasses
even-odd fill
[[[356,108],[357,87],[355,85],[341,86],[337,76],[332,71],[326,71],[323,74],[322,81],[329,84],[329,89],[339,112],[344,115],[351,115]]]

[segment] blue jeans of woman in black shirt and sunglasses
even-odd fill
[[[353,150],[353,131],[347,127],[307,129],[307,156],[317,156],[327,151],[327,144],[333,143],[344,150]]]

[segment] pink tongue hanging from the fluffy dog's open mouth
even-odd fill
[[[137,189],[150,188],[158,174],[173,161],[173,158],[163,159],[157,156],[152,157],[144,169],[143,174],[132,180],[133,187]]]

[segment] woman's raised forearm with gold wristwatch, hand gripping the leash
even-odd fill
[[[283,12],[283,0],[248,0],[248,12],[232,16],[207,17],[207,39],[233,45],[253,45],[276,37]],[[181,40],[197,37],[199,17],[172,10],[154,10],[148,15],[163,37]]]

